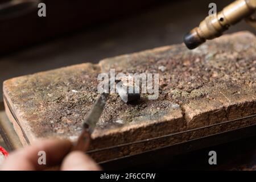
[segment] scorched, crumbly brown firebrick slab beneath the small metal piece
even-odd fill
[[[159,73],[159,98],[111,94],[90,149],[159,137],[255,114],[256,38],[238,32],[191,51],[183,44],[12,78],[3,84],[19,137],[76,140],[97,97],[97,75]],[[12,119],[13,120],[13,119]],[[20,132],[20,126],[23,131]],[[125,155],[125,154],[122,154]]]

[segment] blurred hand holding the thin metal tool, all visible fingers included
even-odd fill
[[[84,170],[97,171],[101,168],[84,152],[71,151],[69,140],[48,139],[41,140],[11,153],[1,170],[5,171],[34,171],[59,166],[61,171]],[[46,164],[39,164],[39,151],[46,154]]]

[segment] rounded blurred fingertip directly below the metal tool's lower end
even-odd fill
[[[98,171],[100,166],[93,159],[81,151],[73,151],[65,156],[61,167],[61,171]]]

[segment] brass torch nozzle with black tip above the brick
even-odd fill
[[[219,13],[207,16],[199,27],[193,28],[184,36],[184,43],[189,49],[194,49],[206,40],[221,36],[230,25],[249,17],[255,10],[256,0],[234,1]]]

